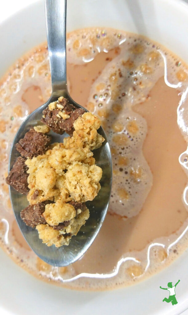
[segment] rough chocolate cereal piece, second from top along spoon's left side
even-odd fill
[[[32,158],[44,154],[50,144],[51,136],[44,135],[31,128],[24,138],[16,143],[16,149],[22,157]]]

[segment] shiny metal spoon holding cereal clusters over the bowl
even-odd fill
[[[24,137],[26,132],[33,126],[36,126],[42,117],[42,111],[49,103],[57,100],[58,97],[66,97],[71,104],[78,108],[82,106],[75,103],[68,91],[66,83],[66,0],[45,0],[46,11],[46,27],[48,39],[48,52],[50,61],[50,70],[52,78],[52,95],[47,103],[37,108],[29,115],[20,126],[15,135],[9,159],[9,171],[12,169],[19,153],[15,149],[15,144]],[[98,196],[87,202],[87,207],[90,211],[90,217],[86,224],[78,232],[77,236],[73,236],[68,246],[56,248],[54,245],[47,247],[38,237],[36,229],[32,229],[21,220],[20,211],[28,205],[26,196],[16,192],[13,187],[9,186],[10,199],[14,214],[18,225],[27,243],[33,251],[43,261],[53,266],[67,266],[74,261],[77,261],[93,243],[97,236],[100,227],[104,221],[111,193],[111,153],[110,147],[106,139],[106,135],[102,128],[99,133],[105,138],[103,145],[94,150],[94,158],[97,165],[103,170],[103,176],[100,181],[101,189]],[[52,142],[62,142],[65,136],[50,132]]]

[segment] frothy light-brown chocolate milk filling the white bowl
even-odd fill
[[[87,290],[130,285],[168,266],[188,246],[187,68],[147,38],[112,29],[68,34],[67,61],[72,98],[100,116],[110,142],[108,213],[87,253],[61,268],[37,258],[14,220],[4,180],[11,142],[51,93],[48,50],[41,45],[1,81],[2,248],[55,284]]]

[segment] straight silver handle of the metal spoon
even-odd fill
[[[52,97],[66,90],[66,0],[44,0]]]

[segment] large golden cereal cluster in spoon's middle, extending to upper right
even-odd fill
[[[93,124],[89,128],[91,121]],[[83,129],[78,129],[79,126]],[[46,200],[57,201],[59,198],[64,202],[72,199],[85,202],[97,196],[102,169],[95,165],[90,149],[96,146],[96,141],[98,147],[102,144],[103,137],[95,129],[99,126],[98,117],[84,113],[75,121],[74,127],[77,129],[72,137],[65,138],[64,143],[53,144],[45,154],[26,160],[30,189],[27,198],[31,205]],[[80,130],[81,136],[78,140],[75,134],[78,135]],[[96,135],[92,138],[90,135],[93,130]],[[36,191],[37,197],[33,196]]]

